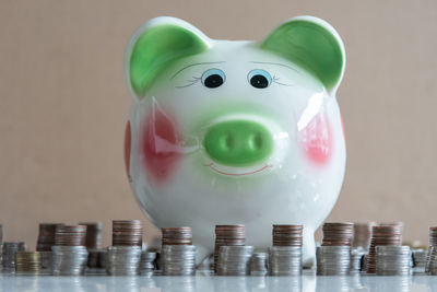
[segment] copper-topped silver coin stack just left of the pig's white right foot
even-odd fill
[[[303,230],[304,226],[300,224],[273,225],[273,246],[269,248],[271,276],[302,273]]]

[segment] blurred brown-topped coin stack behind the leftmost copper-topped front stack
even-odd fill
[[[55,245],[56,229],[63,225],[62,223],[39,223],[36,252],[39,252],[43,271],[51,271],[51,246]]]

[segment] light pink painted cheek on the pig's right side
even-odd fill
[[[332,154],[332,132],[323,113],[318,114],[299,132],[300,145],[306,156],[317,165],[326,164]]]

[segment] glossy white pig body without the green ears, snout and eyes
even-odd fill
[[[133,194],[157,227],[191,226],[198,258],[213,252],[216,224],[245,224],[247,244],[259,248],[272,244],[272,224],[304,224],[308,265],[315,257],[314,233],[332,210],[345,170],[334,92],[296,65],[260,50],[255,42],[209,44],[208,51],[169,67],[144,98],[134,98],[127,143]],[[192,63],[203,65],[189,67]],[[225,72],[222,86],[211,90],[200,81],[188,85],[187,80],[211,68]],[[252,87],[247,80],[252,69],[270,72],[281,84]],[[156,115],[179,137],[157,145],[179,153],[162,179],[144,166],[142,147],[144,128]],[[268,160],[250,167],[211,164],[202,144],[205,131],[231,119],[253,120],[270,130],[274,150]]]

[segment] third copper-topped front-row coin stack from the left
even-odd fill
[[[187,276],[196,272],[196,247],[191,227],[162,229],[161,266],[163,275]]]

